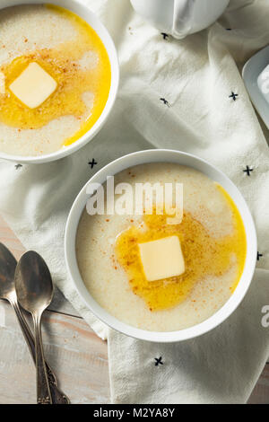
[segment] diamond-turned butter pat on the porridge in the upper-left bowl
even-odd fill
[[[9,89],[23,104],[35,109],[48,99],[56,86],[56,81],[38,63],[33,62],[9,85]]]

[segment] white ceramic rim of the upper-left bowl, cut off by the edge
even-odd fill
[[[99,18],[91,12],[89,7],[85,4],[81,4],[79,1],[76,0],[48,0],[48,2],[44,0],[1,0],[0,2],[0,9],[4,9],[5,7],[19,5],[19,4],[56,4],[61,7],[65,7],[65,9],[70,10],[78,14],[79,16],[84,19],[84,21],[88,22],[93,28],[94,31],[102,40],[105,48],[108,52],[108,57],[111,66],[111,84],[110,90],[108,94],[108,101],[105,105],[104,110],[102,111],[100,118],[96,121],[96,123],[91,127],[88,132],[83,135],[80,139],[74,142],[74,144],[66,146],[60,150],[57,150],[51,154],[44,154],[39,156],[23,156],[23,155],[12,155],[12,154],[4,154],[0,152],[0,158],[4,158],[5,160],[14,161],[16,163],[48,163],[59,158],[63,158],[66,155],[74,153],[80,149],[83,145],[86,145],[92,138],[95,136],[99,131],[100,128],[104,125],[105,121],[108,119],[108,115],[113,107],[114,101],[116,100],[117,96],[117,86],[118,86],[118,79],[119,79],[119,67],[117,61],[117,51],[114,45],[113,40],[111,39],[108,31],[104,27],[104,25],[100,22]]]

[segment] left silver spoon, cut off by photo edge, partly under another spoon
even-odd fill
[[[36,351],[35,351],[35,340],[31,334],[30,327],[25,320],[20,305],[18,303],[17,294],[15,291],[14,275],[15,268],[17,265],[16,259],[13,257],[11,251],[9,251],[3,243],[0,242],[0,299],[6,299],[15,311],[18,321],[20,323],[23,336],[27,342],[30,350],[30,355],[36,362]],[[56,376],[53,374],[52,369],[46,362],[48,383],[50,393],[52,396],[53,404],[69,404],[70,400],[65,394],[60,391],[56,385]]]

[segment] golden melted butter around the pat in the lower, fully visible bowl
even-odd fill
[[[166,310],[182,303],[196,283],[227,273],[232,260],[236,260],[237,271],[230,282],[230,294],[238,285],[247,253],[246,233],[234,202],[220,185],[216,186],[230,207],[233,223],[231,234],[214,238],[193,215],[184,213],[181,224],[167,224],[167,215],[143,215],[145,230],[133,225],[117,237],[117,260],[126,271],[134,295],[140,296],[150,311]],[[185,273],[178,277],[147,281],[138,243],[172,235],[177,235],[181,243]]]

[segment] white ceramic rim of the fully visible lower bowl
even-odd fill
[[[107,176],[113,176],[117,172],[125,170],[128,167],[143,163],[178,163],[193,167],[198,171],[202,171],[209,178],[217,181],[226,189],[230,197],[235,202],[239,209],[239,213],[243,219],[247,234],[247,258],[245,268],[237,286],[230,299],[221,307],[221,309],[213,314],[207,320],[187,328],[185,330],[157,332],[147,331],[134,328],[125,322],[118,321],[115,317],[110,315],[107,311],[100,307],[98,303],[91,297],[91,294],[84,286],[82,277],[75,256],[75,237],[77,226],[82,215],[82,211],[86,205],[89,196],[86,194],[86,189],[89,183],[98,182],[104,183]],[[65,228],[65,260],[69,276],[73,280],[74,286],[82,297],[82,301],[101,321],[108,324],[114,330],[143,340],[156,342],[174,342],[186,340],[187,338],[194,338],[200,336],[209,330],[213,330],[217,325],[229,317],[231,312],[238,307],[239,303],[247,293],[250,285],[254,269],[256,267],[256,229],[253,223],[252,216],[248,210],[247,204],[239,192],[239,189],[232,183],[232,181],[225,176],[224,173],[213,167],[213,165],[206,163],[204,160],[195,155],[181,153],[179,151],[156,149],[140,151],[138,153],[128,154],[124,157],[118,158],[112,163],[109,163],[103,169],[98,171],[82,188],[81,192],[74,201]]]

